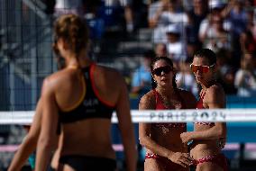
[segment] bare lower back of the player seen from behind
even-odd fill
[[[65,130],[64,143],[60,156],[82,155],[115,158],[110,126],[111,122],[104,119],[90,119],[65,124],[63,126],[63,130]],[[74,130],[76,131],[74,132]]]

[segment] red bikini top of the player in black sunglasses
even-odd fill
[[[183,99],[181,98],[181,95],[178,93],[178,91],[176,91],[177,94],[178,94],[178,99],[180,100],[181,102],[181,108],[180,109],[185,109],[186,105],[184,104],[184,101]],[[173,108],[168,108],[166,107],[161,99],[160,99],[160,94],[155,90],[153,89],[153,93],[155,95],[155,100],[156,100],[156,110],[168,110],[168,109],[173,109]],[[156,127],[165,127],[165,128],[184,128],[184,127],[187,127],[187,123],[154,123],[154,125]]]

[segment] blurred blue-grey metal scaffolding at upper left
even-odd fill
[[[51,17],[32,0],[0,1],[0,110],[32,110],[41,80],[56,69]]]

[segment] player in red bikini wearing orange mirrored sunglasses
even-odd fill
[[[224,89],[215,80],[216,56],[210,49],[199,50],[191,64],[198,84],[202,90],[197,109],[215,109],[225,107]],[[221,153],[226,139],[224,122],[195,122],[194,131],[180,134],[182,142],[192,141],[190,156],[197,170],[226,171],[226,158]]]

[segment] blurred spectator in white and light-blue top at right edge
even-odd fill
[[[234,85],[239,96],[250,97],[256,95],[255,68],[251,54],[244,54],[241,58],[241,68],[235,73]]]

